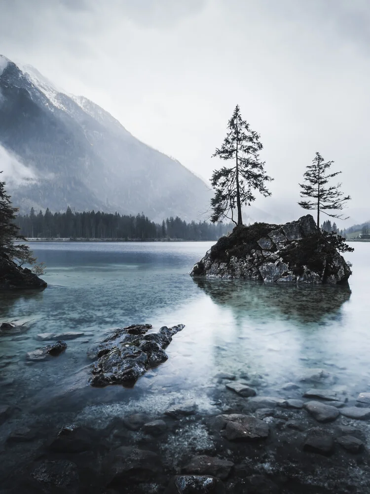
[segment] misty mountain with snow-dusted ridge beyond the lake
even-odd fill
[[[0,55],[0,170],[22,212],[100,209],[206,217],[211,191],[108,112]]]

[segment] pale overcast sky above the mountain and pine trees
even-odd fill
[[[370,219],[369,0],[0,0],[0,53],[209,179],[236,104],[283,221],[319,151]]]

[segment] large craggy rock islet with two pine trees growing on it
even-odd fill
[[[318,243],[323,248],[318,249]],[[190,276],[265,283],[347,282],[351,270],[310,214],[285,225],[237,226],[197,262]]]

